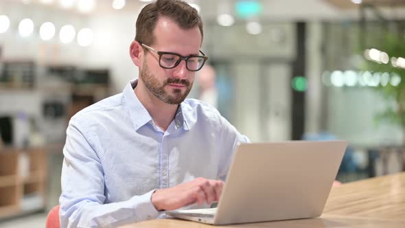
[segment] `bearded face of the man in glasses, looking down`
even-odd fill
[[[161,52],[174,52],[182,56],[199,54],[201,34],[198,27],[184,30],[167,17],[160,17],[154,29],[155,42],[151,45]],[[173,69],[159,66],[159,55],[148,50],[143,57],[140,80],[159,100],[167,104],[180,104],[192,89],[195,72],[186,68],[184,60]]]

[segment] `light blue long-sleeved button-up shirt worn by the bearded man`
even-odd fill
[[[235,147],[248,142],[216,109],[194,99],[182,102],[161,130],[135,95],[136,85],[71,118],[63,148],[62,227],[157,218],[154,190],[200,176],[224,180]]]

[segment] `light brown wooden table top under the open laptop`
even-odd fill
[[[213,227],[177,219],[148,220],[130,227],[206,228]],[[218,227],[405,227],[405,172],[380,176],[334,187],[320,218],[249,223]]]

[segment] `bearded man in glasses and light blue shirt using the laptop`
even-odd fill
[[[130,57],[139,79],[69,122],[62,227],[115,227],[163,210],[209,207],[237,144],[248,142],[216,109],[185,100],[207,60],[196,10],[158,0],[143,8],[136,28]]]

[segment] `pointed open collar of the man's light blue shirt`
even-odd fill
[[[152,117],[150,116],[148,110],[145,109],[145,106],[143,106],[135,94],[134,89],[137,87],[137,84],[137,79],[130,81],[122,92],[124,94],[126,108],[130,113],[130,118],[135,130],[138,130],[141,128],[141,126],[149,122],[153,124]],[[184,130],[189,130],[189,124],[187,124],[187,115],[184,113],[187,110],[188,109],[185,107],[184,102],[181,102],[176,111],[176,115],[174,115],[174,124],[176,129],[183,126]]]

